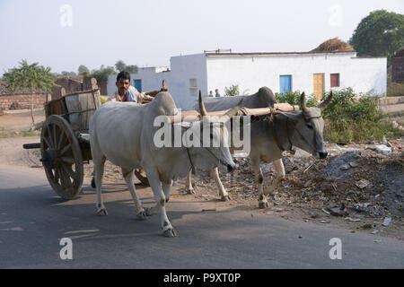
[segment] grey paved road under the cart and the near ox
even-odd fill
[[[139,189],[145,206],[154,200]],[[310,223],[226,209],[174,196],[168,216],[179,237],[167,239],[158,217],[136,220],[123,185],[105,189],[108,217],[95,215],[90,187],[60,199],[43,170],[0,165],[0,268],[403,268],[404,243]],[[59,257],[73,241],[73,260]],[[342,259],[329,258],[329,239],[342,240]],[[375,243],[374,239],[380,239]]]

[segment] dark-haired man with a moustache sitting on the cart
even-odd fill
[[[134,101],[137,103],[148,103],[154,99],[155,95],[160,91],[168,91],[166,81],[162,81],[162,89],[159,91],[139,92],[130,85],[130,74],[122,71],[117,76],[118,91],[115,91],[113,99],[117,101]]]

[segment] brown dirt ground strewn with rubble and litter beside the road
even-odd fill
[[[43,112],[38,111],[36,122],[43,118]],[[38,133],[23,134],[30,121],[29,113],[0,116],[2,163],[42,169],[40,151],[22,149],[23,143],[40,142]],[[259,209],[257,186],[247,158],[236,159],[238,169],[221,175],[232,198],[230,201],[220,200],[214,180],[202,170],[193,177],[196,195],[185,192],[184,179],[175,183],[171,194],[174,198],[205,201],[211,211],[237,207],[251,216],[261,213],[302,224],[327,224],[352,232],[404,239],[404,152],[400,149],[404,147],[404,137],[391,143],[395,151],[388,154],[374,150],[380,143],[327,144],[329,157],[326,160],[315,160],[303,151],[286,154],[283,158],[286,179],[278,185],[274,185],[273,165],[263,164],[267,209]],[[84,165],[84,177],[85,182],[91,180],[92,162]],[[124,184],[119,167],[109,161],[104,178]],[[362,179],[366,187],[359,185]],[[149,189],[143,191],[151,195]],[[389,218],[391,222],[383,226]]]

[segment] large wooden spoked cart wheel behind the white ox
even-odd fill
[[[83,185],[83,156],[65,118],[57,115],[47,118],[40,135],[40,152],[50,186],[58,196],[75,197]]]

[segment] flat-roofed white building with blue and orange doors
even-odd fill
[[[171,57],[171,68],[139,68],[132,84],[142,91],[160,89],[166,79],[176,105],[192,109],[203,95],[233,84],[247,94],[262,86],[274,92],[304,91],[321,99],[324,91],[351,87],[371,95],[386,93],[386,57],[356,57],[356,52],[203,53]],[[116,91],[116,75],[108,81],[108,94]]]

